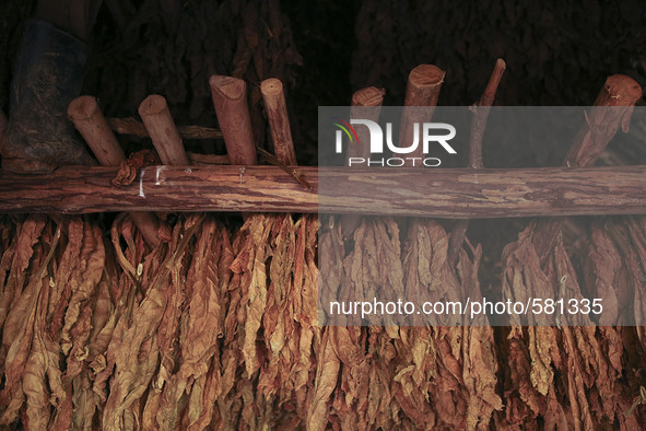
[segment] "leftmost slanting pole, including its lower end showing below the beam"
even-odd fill
[[[96,98],[92,96],[74,98],[68,107],[68,116],[102,166],[119,166],[126,160],[124,150],[108,127]],[[131,212],[129,215],[145,242],[152,247],[156,246],[160,243],[157,218],[150,212]]]

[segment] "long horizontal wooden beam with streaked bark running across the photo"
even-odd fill
[[[150,166],[115,187],[114,167],[0,171],[0,212],[244,211],[508,218],[646,214],[646,166],[592,168]],[[321,182],[320,179],[324,178]]]

